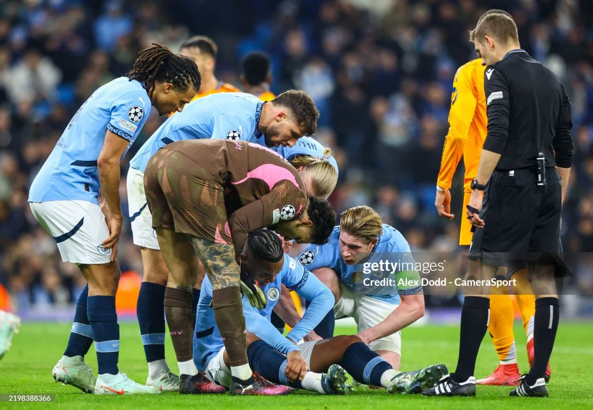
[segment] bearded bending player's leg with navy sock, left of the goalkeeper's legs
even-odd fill
[[[136,316],[140,325],[142,344],[148,363],[147,386],[155,386],[164,392],[179,390],[179,376],[171,373],[165,360],[165,287],[169,270],[158,249],[140,248],[144,276]]]

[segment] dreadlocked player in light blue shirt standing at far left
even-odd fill
[[[98,88],[82,104],[31,185],[33,215],[58,243],[63,262],[76,263],[88,282],[76,304],[68,347],[52,371],[56,382],[95,394],[161,391],[158,383],[143,386],[117,368],[116,259],[123,221],[119,164],[151,107],[160,115],[181,110],[200,81],[191,59],[157,44],[142,50],[132,71]],[[93,341],[97,379],[84,362]]]

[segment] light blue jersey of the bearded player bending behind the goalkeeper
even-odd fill
[[[218,93],[197,98],[167,119],[130,161],[130,167],[144,172],[158,150],[182,139],[241,139],[257,143],[257,131],[264,102],[246,93]],[[262,138],[263,140],[263,138]]]

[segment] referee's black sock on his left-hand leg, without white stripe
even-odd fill
[[[459,358],[457,369],[451,374],[455,382],[465,382],[474,375],[476,358],[480,344],[488,329],[490,299],[479,296],[466,296],[461,309],[461,329],[459,338]]]

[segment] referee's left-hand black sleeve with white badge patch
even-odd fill
[[[500,69],[489,66],[484,71],[488,134],[484,150],[502,154],[509,135],[509,86],[506,75]]]

